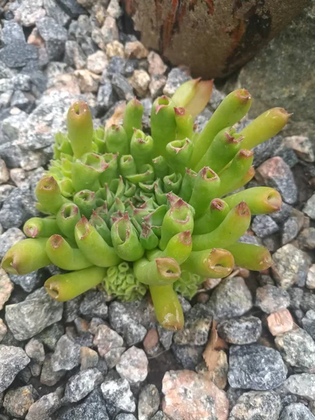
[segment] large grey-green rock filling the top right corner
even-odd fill
[[[315,123],[315,1],[240,71],[236,87],[246,88],[255,101],[250,115],[273,106],[293,113],[293,122]],[[312,125],[305,125],[312,132]],[[296,134],[299,133],[298,126]]]

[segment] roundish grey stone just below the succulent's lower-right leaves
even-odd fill
[[[253,302],[249,288],[242,277],[224,279],[215,288],[209,300],[216,321],[245,314]]]

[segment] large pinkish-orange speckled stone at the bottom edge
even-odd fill
[[[171,420],[228,418],[226,393],[192,370],[166,372],[162,392],[163,412]]]

